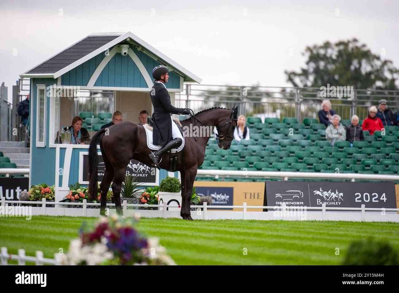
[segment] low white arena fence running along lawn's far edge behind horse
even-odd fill
[[[17,206],[8,213],[9,208],[14,206],[6,206],[6,204],[29,204],[40,205],[40,207],[32,206]],[[46,205],[54,205],[55,207],[46,207]],[[83,208],[65,208],[65,205],[81,205]],[[40,201],[6,201],[4,197],[1,198],[0,216],[23,216],[29,218],[36,215],[48,216],[100,216],[98,209],[87,208],[88,205],[99,206],[100,203],[63,203],[63,202],[49,202],[43,199]],[[61,206],[61,207],[57,207]],[[114,207],[115,204],[107,204],[107,206]],[[128,206],[146,207],[146,208],[162,208],[162,210],[128,210]],[[7,207],[7,208],[6,208]],[[237,206],[208,206],[207,203],[203,205],[192,205],[191,208],[196,210],[191,212],[194,219],[201,220],[217,220],[217,219],[234,219],[234,220],[350,220],[350,221],[381,221],[381,222],[399,222],[398,208],[366,208],[361,205],[360,208],[341,208],[330,207],[322,204],[321,207],[306,207],[306,206],[286,206],[283,203],[281,206],[247,206],[247,203]],[[180,206],[167,205],[139,205],[128,204],[123,201],[123,214],[125,216],[144,216],[148,218],[180,218]],[[241,210],[208,210],[211,209],[242,209]],[[174,210],[169,210],[174,209]],[[251,209],[267,210],[267,211],[251,211]],[[369,213],[366,213],[369,212]],[[108,209],[107,214],[115,214],[115,209]]]

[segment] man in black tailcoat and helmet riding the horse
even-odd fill
[[[165,86],[169,79],[168,72],[169,69],[164,65],[158,65],[152,70],[152,77],[155,79],[150,92],[152,106],[154,106],[152,142],[154,145],[160,144],[162,148],[151,151],[149,156],[153,167],[158,169],[162,156],[167,151],[179,147],[184,140],[172,114],[190,114],[190,109],[176,108],[170,103],[170,96]]]

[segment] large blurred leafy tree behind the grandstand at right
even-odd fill
[[[294,87],[353,86],[358,89],[397,90],[399,70],[354,38],[306,47],[306,67],[284,71]]]

